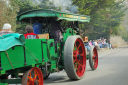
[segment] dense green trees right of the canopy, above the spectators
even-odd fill
[[[109,35],[119,34],[119,25],[124,17],[124,1],[116,0],[73,0],[80,14],[90,15],[90,23],[84,24],[84,35],[90,39],[109,38]]]

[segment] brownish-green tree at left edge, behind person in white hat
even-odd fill
[[[18,11],[15,0],[0,0],[0,30],[2,30],[4,23],[10,23],[12,30],[15,31]]]

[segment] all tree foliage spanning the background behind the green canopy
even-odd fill
[[[56,5],[57,0],[1,0],[0,2],[0,28],[4,23],[11,23],[13,28],[16,26],[16,15],[32,9],[54,9],[67,10],[74,6],[79,14],[89,15],[89,23],[80,23],[80,29],[83,36],[89,36],[89,39],[99,37],[109,38],[110,35],[122,35],[127,37],[127,31],[121,26],[126,11],[126,0],[65,0],[72,6]],[[60,0],[60,2],[63,0]],[[73,1],[73,2],[71,2]],[[58,4],[58,2],[57,2]],[[64,3],[63,3],[64,4]],[[124,7],[125,6],[125,7]],[[18,12],[19,11],[19,12]],[[23,30],[22,24],[17,24],[17,32]],[[122,29],[123,28],[123,29]],[[125,34],[125,35],[124,35]]]

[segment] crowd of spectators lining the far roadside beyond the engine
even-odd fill
[[[110,39],[107,41],[107,39],[100,38],[97,40],[90,40],[89,42],[85,42],[85,47],[87,50],[90,49],[90,46],[95,46],[97,49],[102,49],[102,48],[108,48],[112,49],[112,45],[110,43]]]

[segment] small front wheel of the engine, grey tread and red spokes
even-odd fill
[[[98,53],[96,47],[91,46],[89,50],[89,65],[92,70],[98,67]]]

